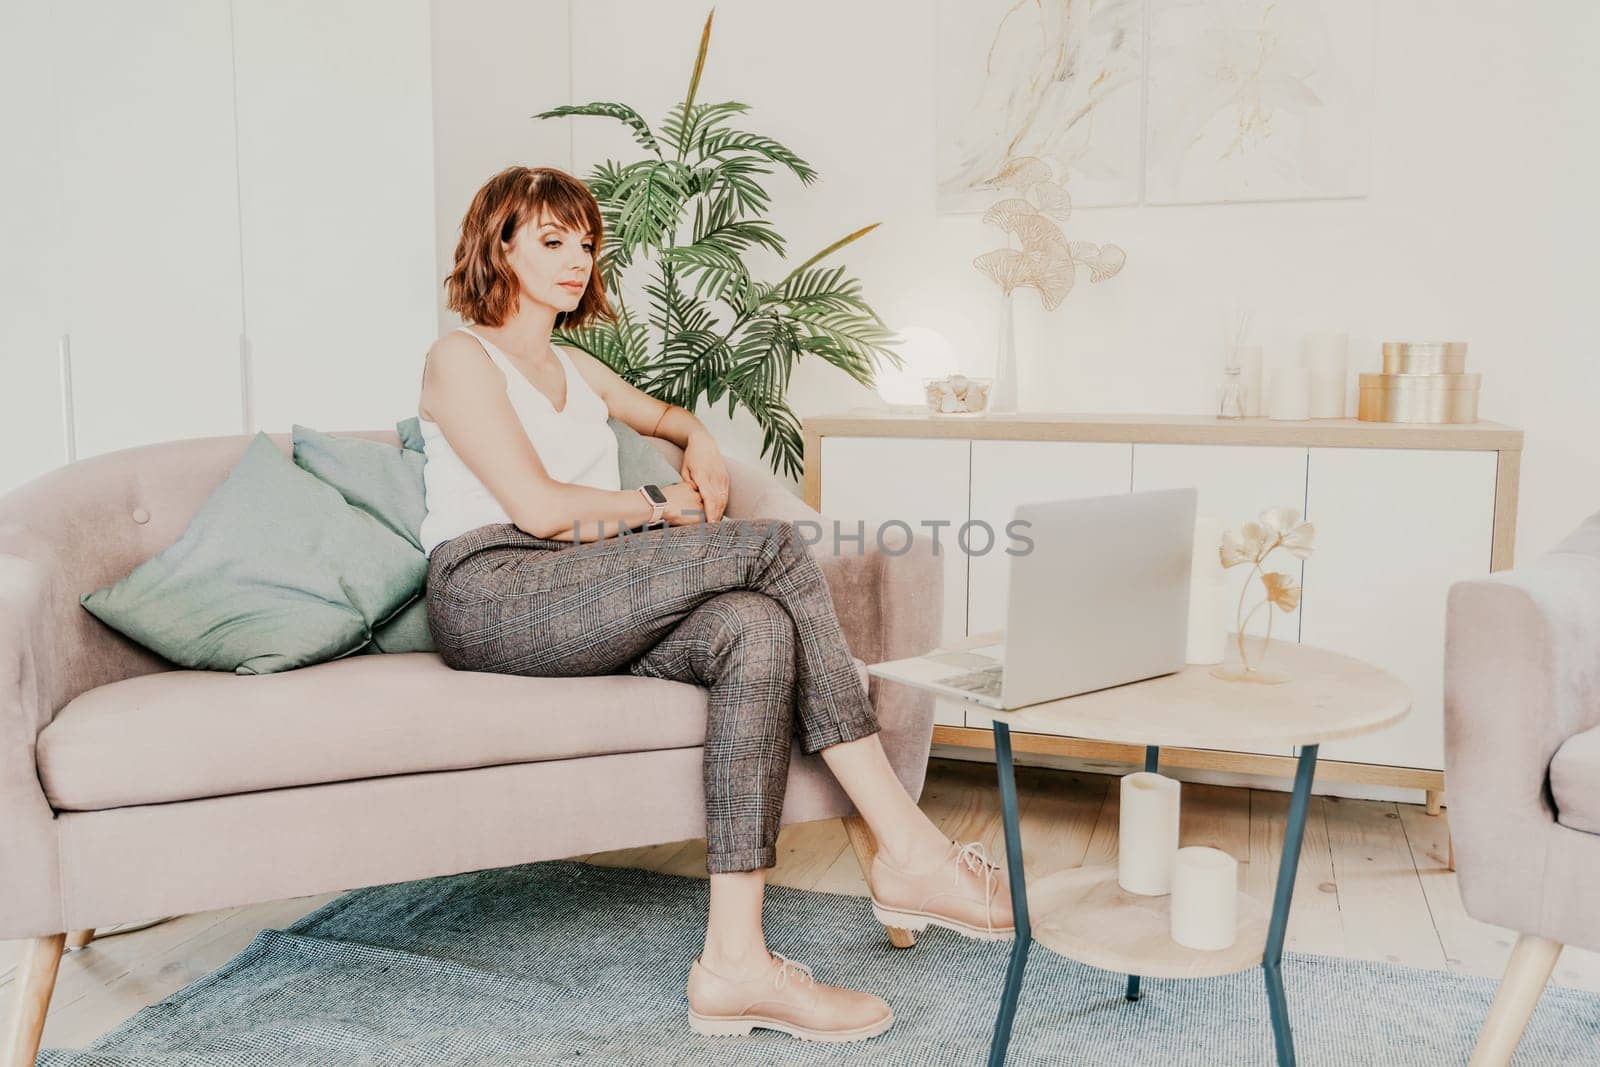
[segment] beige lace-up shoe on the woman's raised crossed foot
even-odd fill
[[[867,883],[872,915],[885,926],[918,931],[933,923],[981,941],[1016,937],[1010,881],[981,841],[950,841],[944,859],[920,872],[893,867],[878,853]]]

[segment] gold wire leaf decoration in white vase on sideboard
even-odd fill
[[[1088,269],[1090,283],[1096,283],[1115,277],[1128,262],[1128,254],[1115,245],[1066,238],[1059,222],[1072,216],[1072,197],[1043,160],[1010,158],[986,184],[1014,194],[990,205],[984,222],[1014,235],[1022,250],[995,248],[973,259],[973,266],[1008,298],[1019,288],[1032,288],[1045,310],[1056,310],[1072,293],[1080,264]]]

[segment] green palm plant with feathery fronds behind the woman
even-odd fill
[[[864,226],[810,256],[776,282],[750,275],[744,254],[787,253],[768,216],[763,179],[786,170],[802,184],[816,171],[778,141],[733,126],[749,110],[736,101],[698,99],[712,16],[701,30],[688,93],[659,131],[632,107],[570,104],[536,118],[592,115],[627,126],[642,149],[634,162],[603,160],[586,176],[606,227],[597,269],[616,294],[614,322],[558,328],[555,339],[589,352],[626,381],[667,403],[694,410],[728,402],[762,427],[762,456],[789,477],[802,469],[800,421],[784,394],[802,357],[874,384],[880,360],[899,366],[894,334],[861,294],[861,283],[830,256],[861,240]],[[638,277],[645,306],[624,298]]]

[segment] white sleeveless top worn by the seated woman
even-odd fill
[[[523,378],[499,346],[466,326],[458,326],[458,330],[477,338],[494,365],[506,374],[506,394],[510,397],[510,406],[517,411],[523,432],[533,442],[539,461],[552,478],[595,490],[622,488],[618,474],[616,434],[606,426],[610,411],[605,400],[589,387],[584,376],[562,352],[562,346],[552,346],[555,358],[566,371],[566,403],[557,411],[550,398]],[[488,523],[512,522],[488,486],[478,482],[478,477],[450,446],[438,424],[421,414],[418,414],[418,422],[422,429],[422,446],[427,450],[427,464],[422,467],[427,515],[422,517],[419,531],[422,552],[432,555],[434,549],[469,530]]]

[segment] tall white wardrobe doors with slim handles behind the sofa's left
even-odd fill
[[[0,493],[74,448],[416,411],[430,35],[427,0],[0,5]]]

